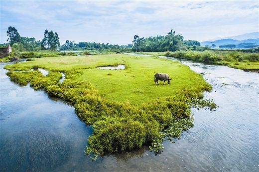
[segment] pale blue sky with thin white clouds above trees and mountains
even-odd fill
[[[44,30],[60,42],[131,43],[173,28],[199,41],[259,31],[258,0],[0,0],[0,42],[8,26],[42,40]]]

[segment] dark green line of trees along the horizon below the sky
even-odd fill
[[[37,50],[92,50],[92,49],[112,49],[119,51],[147,51],[164,52],[177,51],[182,49],[198,49],[200,42],[197,40],[183,40],[181,34],[175,34],[171,29],[166,35],[149,36],[147,38],[134,35],[132,44],[118,45],[97,42],[79,42],[66,40],[65,44],[60,45],[58,33],[47,29],[44,32],[42,41],[35,40],[34,37],[20,36],[15,27],[9,26],[7,41],[12,48],[18,51],[37,51]]]

